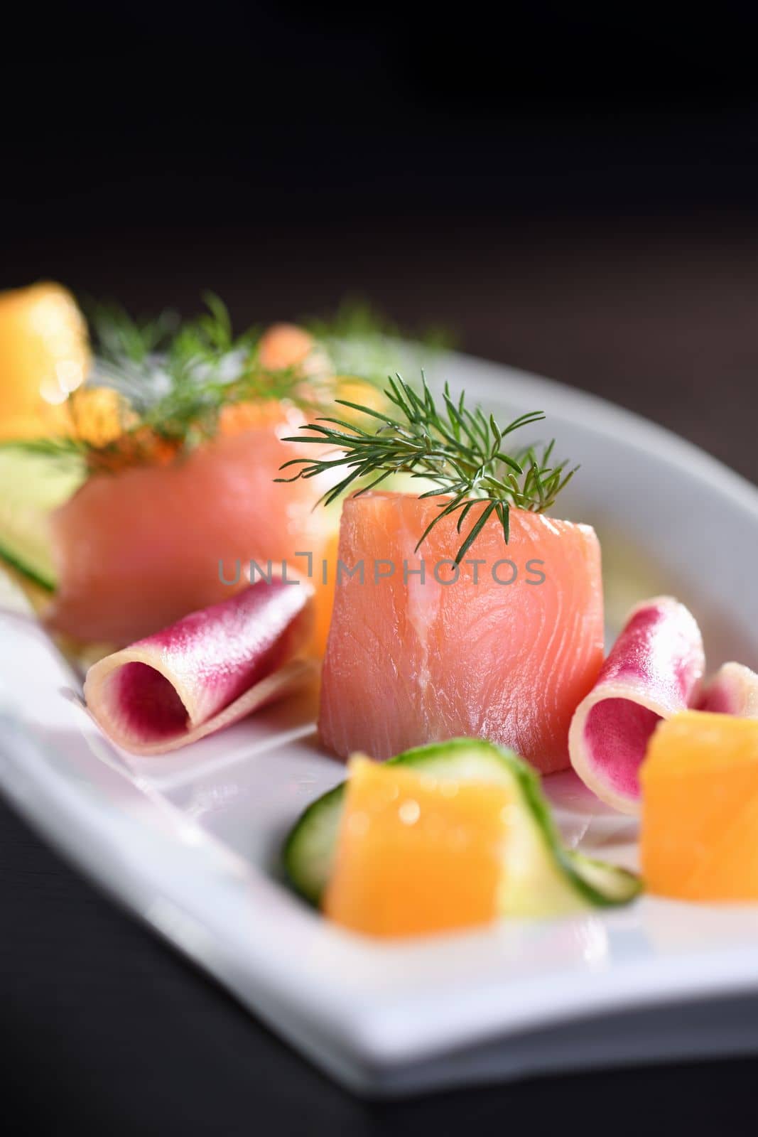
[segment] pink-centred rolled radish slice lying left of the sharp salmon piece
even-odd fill
[[[194,742],[303,684],[313,624],[305,581],[256,581],[90,667],[86,705],[132,754]]]

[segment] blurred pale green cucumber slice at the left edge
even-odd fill
[[[57,584],[49,517],[84,480],[74,455],[0,446],[0,557],[28,580],[47,589]]]

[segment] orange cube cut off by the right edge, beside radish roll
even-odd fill
[[[684,711],[661,722],[641,786],[649,891],[758,901],[758,720]]]

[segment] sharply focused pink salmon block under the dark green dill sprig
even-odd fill
[[[456,571],[455,516],[417,549],[440,500],[372,490],[343,505],[322,740],[384,760],[484,738],[541,773],[566,770],[572,715],[602,664],[598,538],[511,508],[508,545],[491,516]]]

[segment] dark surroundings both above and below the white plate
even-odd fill
[[[5,14],[0,287],[53,277],[136,312],[210,288],[239,323],[361,294],[758,481],[755,20],[573,7]],[[5,808],[0,913],[14,1131],[755,1122],[747,1061],[358,1105]]]

